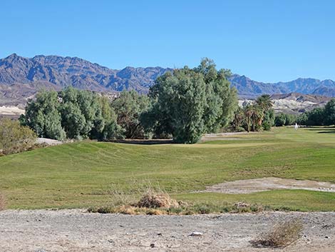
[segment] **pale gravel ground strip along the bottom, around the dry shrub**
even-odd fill
[[[273,223],[304,222],[303,236],[284,249],[249,241]],[[0,251],[335,251],[333,213],[243,213],[127,216],[81,210],[0,212]],[[201,236],[190,236],[201,232]]]

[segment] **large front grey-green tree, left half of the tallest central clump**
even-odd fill
[[[153,119],[156,134],[171,133],[178,143],[195,143],[205,132],[205,81],[202,74],[175,69],[156,80],[150,89],[153,109],[145,116]]]

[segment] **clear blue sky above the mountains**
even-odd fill
[[[335,80],[335,1],[4,0],[0,58],[78,56],[112,69],[197,66],[265,82]]]

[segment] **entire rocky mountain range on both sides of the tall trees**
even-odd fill
[[[159,66],[115,70],[77,57],[26,58],[11,54],[0,59],[0,106],[25,104],[39,89],[61,90],[66,86],[112,93],[133,89],[146,94],[158,76],[172,70]],[[331,80],[297,79],[269,84],[233,74],[230,81],[242,99],[292,92],[335,96],[335,81]]]

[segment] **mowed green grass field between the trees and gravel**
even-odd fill
[[[335,211],[335,193],[194,193],[224,181],[269,176],[335,183],[335,129],[282,127],[194,145],[82,141],[0,157],[0,192],[9,208],[105,206],[111,201],[110,186],[135,197],[137,187],[150,183],[190,203],[246,201]]]

